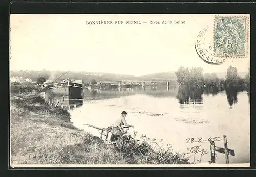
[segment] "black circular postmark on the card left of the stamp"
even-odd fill
[[[208,38],[208,27],[199,32],[195,39],[195,49],[199,57],[208,64],[222,64],[225,58],[214,57],[215,47],[212,38]]]

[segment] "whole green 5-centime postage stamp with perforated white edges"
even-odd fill
[[[215,16],[214,56],[244,58],[249,40],[249,18],[246,16]]]

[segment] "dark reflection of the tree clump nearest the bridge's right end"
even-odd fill
[[[179,87],[176,98],[179,100],[180,105],[192,104],[202,104],[203,90],[201,88],[188,88],[188,87]]]

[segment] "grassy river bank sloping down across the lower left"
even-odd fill
[[[79,130],[68,110],[40,96],[12,95],[11,164],[187,164],[169,147],[148,138],[123,137],[116,145]]]

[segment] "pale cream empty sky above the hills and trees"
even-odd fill
[[[194,41],[214,15],[10,15],[10,69],[146,75],[179,66],[247,72],[249,55],[224,64],[204,62]],[[91,20],[186,21],[186,24],[87,25]],[[209,34],[212,35],[212,34]]]

